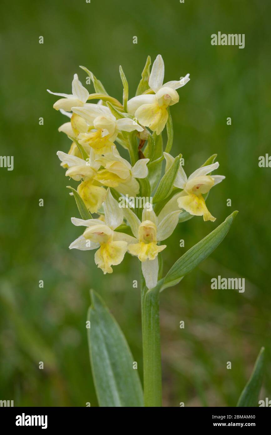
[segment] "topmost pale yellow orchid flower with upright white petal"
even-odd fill
[[[149,78],[149,86],[155,94],[144,94],[131,98],[127,104],[128,112],[135,115],[140,124],[160,134],[167,122],[167,107],[179,101],[176,89],[184,86],[189,80],[189,74],[187,74],[180,80],[163,84],[164,61],[158,54]]]

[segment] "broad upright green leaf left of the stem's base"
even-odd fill
[[[92,305],[87,314],[90,363],[99,405],[141,407],[143,392],[134,358],[127,341],[102,298],[90,292]]]

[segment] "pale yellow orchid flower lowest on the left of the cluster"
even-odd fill
[[[82,251],[99,248],[94,255],[95,263],[104,274],[112,273],[112,265],[120,264],[127,251],[128,243],[136,241],[134,237],[114,231],[123,222],[123,211],[107,189],[104,201],[104,222],[100,219],[72,218],[74,225],[88,227],[82,236],[70,244],[70,249]]]

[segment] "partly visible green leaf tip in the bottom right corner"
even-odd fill
[[[261,385],[264,375],[264,348],[261,348],[260,353],[248,380],[247,385],[241,392],[241,396],[236,406],[258,406],[258,397],[261,390]]]

